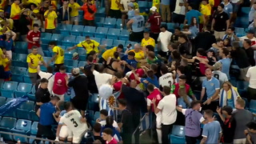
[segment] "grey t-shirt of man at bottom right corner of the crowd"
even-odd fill
[[[232,117],[236,123],[234,130],[234,139],[246,138],[244,130],[247,129],[246,124],[254,119],[254,114],[249,110],[235,110]]]

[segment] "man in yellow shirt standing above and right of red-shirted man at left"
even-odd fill
[[[54,11],[53,5],[49,6],[49,10],[46,10],[44,17],[46,21],[46,24],[45,24],[46,33],[54,33],[58,25],[58,22],[57,22],[58,16]]]

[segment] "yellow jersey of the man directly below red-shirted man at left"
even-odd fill
[[[27,57],[26,57],[26,62],[27,63],[31,63],[32,66],[38,66],[39,62],[43,62],[43,58],[42,58],[42,55],[40,54],[28,54]],[[29,66],[29,73],[37,73],[38,72],[38,69],[35,68],[35,69],[32,69],[30,66]]]

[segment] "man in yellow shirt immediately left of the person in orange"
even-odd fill
[[[71,24],[74,23],[74,25],[78,25],[79,17],[78,17],[78,10],[80,9],[80,5],[78,2],[74,2],[74,0],[70,0],[69,6],[71,7],[71,13],[70,13],[70,21]]]

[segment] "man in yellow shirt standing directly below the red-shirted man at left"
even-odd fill
[[[27,55],[26,62],[28,63],[29,67],[30,81],[32,82],[32,84],[35,84],[38,79],[38,65],[44,64],[46,66],[46,63],[43,61],[42,55],[38,54],[37,46],[32,47],[32,52]]]

